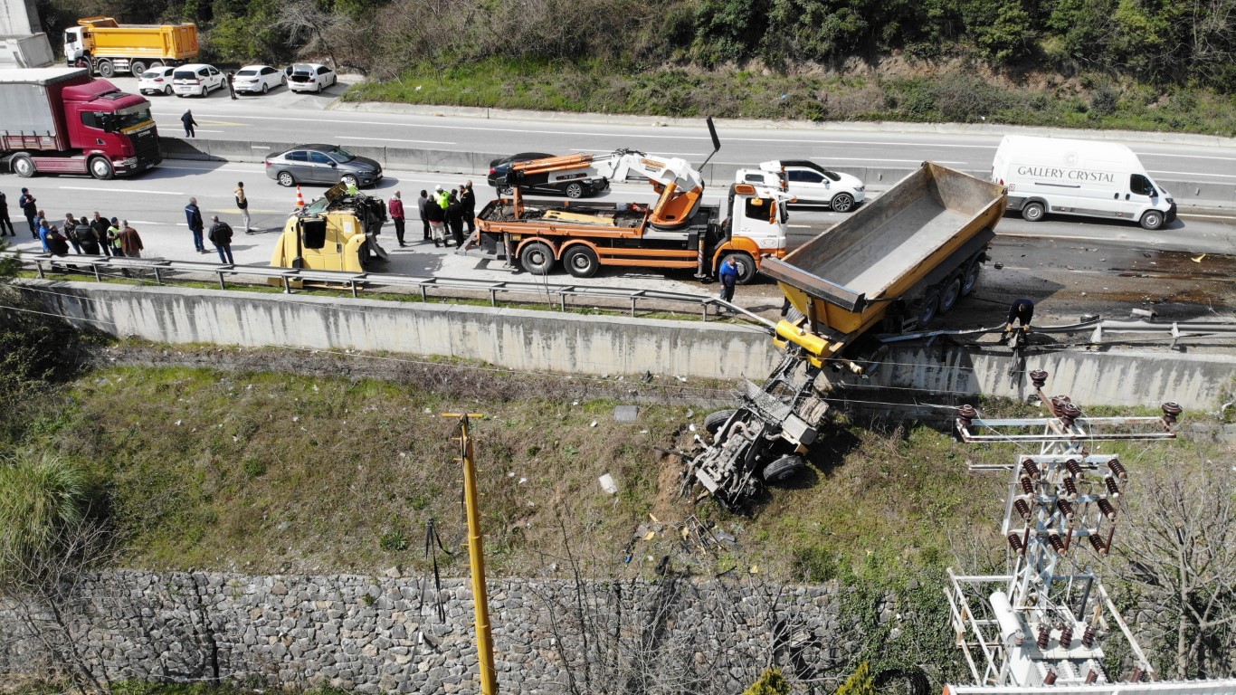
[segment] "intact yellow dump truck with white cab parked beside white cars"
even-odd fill
[[[64,62],[89,67],[105,78],[148,68],[179,66],[198,57],[198,26],[121,25],[112,17],[85,17],[64,30]]]

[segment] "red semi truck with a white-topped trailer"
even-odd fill
[[[21,177],[106,179],[162,161],[150,101],[83,68],[0,70],[0,153]]]

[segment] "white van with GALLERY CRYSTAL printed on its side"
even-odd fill
[[[1133,220],[1158,229],[1175,220],[1175,202],[1119,142],[1006,135],[991,182],[1009,188],[1009,209],[1028,221],[1047,213]]]

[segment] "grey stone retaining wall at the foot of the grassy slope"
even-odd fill
[[[828,678],[857,649],[833,586],[759,581],[489,585],[499,689],[742,691],[769,664]],[[48,611],[0,602],[0,674],[74,658],[100,679],[234,680],[358,693],[478,693],[464,580],[90,575]],[[633,689],[633,690],[632,690]],[[607,688],[606,690],[609,690]]]

